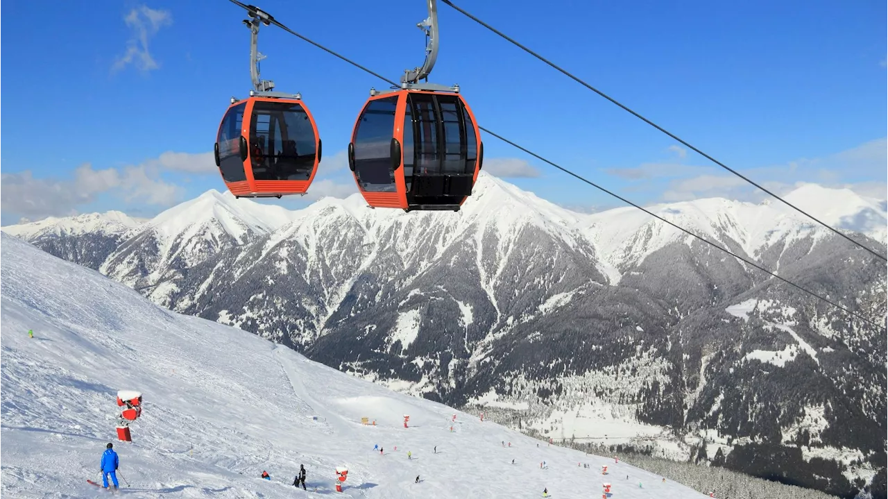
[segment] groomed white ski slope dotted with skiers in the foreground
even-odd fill
[[[129,482],[120,494],[131,497],[337,496],[337,466],[349,469],[347,497],[541,497],[548,487],[588,498],[606,481],[613,499],[704,497],[170,313],[10,235],[0,233],[0,255],[2,497],[98,496],[86,479],[98,478],[109,441]],[[132,443],[115,438],[117,390],[144,393]],[[307,492],[290,485],[300,463]]]

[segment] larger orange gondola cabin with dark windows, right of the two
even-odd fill
[[[483,156],[472,109],[460,94],[442,91],[370,97],[348,145],[349,168],[369,205],[405,211],[458,211]]]

